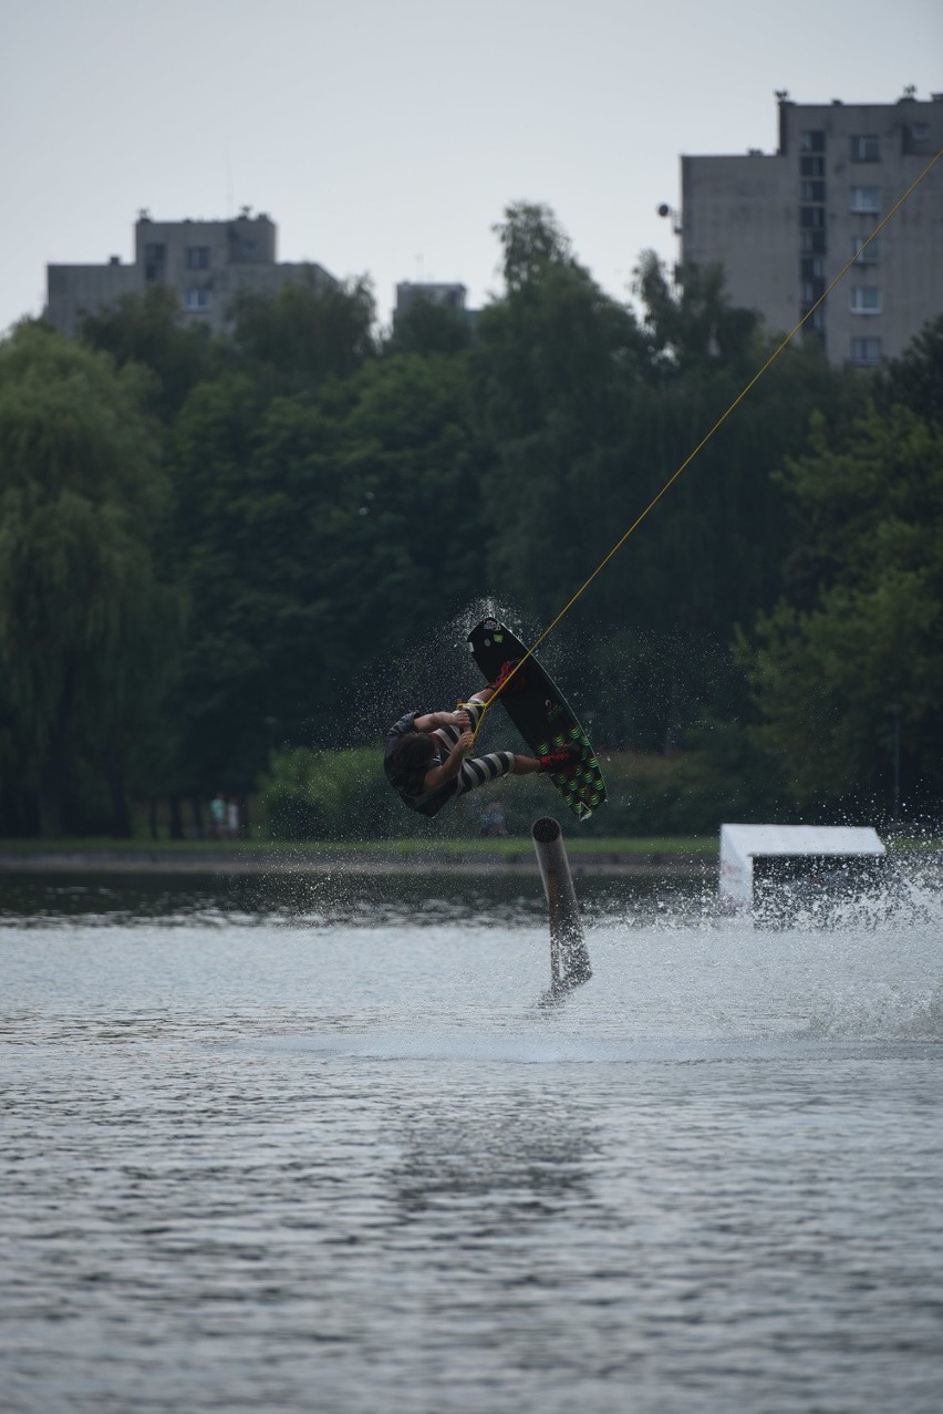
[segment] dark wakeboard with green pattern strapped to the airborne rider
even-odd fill
[[[478,667],[493,683],[509,659],[527,648],[505,624],[486,618],[468,635]],[[582,755],[575,769],[554,771],[550,779],[578,820],[588,820],[605,800],[605,782],[595,751],[563,693],[532,655],[498,699],[534,756],[577,744]]]

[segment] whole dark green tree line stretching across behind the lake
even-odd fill
[[[773,346],[717,269],[643,255],[632,305],[549,209],[498,238],[475,317],[297,283],[209,338],[156,286],[0,344],[0,833],[180,829],[298,749],[317,792],[475,686],[482,607],[536,636]],[[679,829],[874,816],[895,769],[939,813],[942,372],[943,321],[877,375],[793,341],[541,652],[616,775],[710,779]]]

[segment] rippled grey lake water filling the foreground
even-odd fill
[[[943,902],[0,877],[0,1404],[943,1407]]]

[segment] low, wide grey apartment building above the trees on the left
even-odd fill
[[[85,312],[109,308],[122,296],[143,294],[160,283],[177,291],[188,320],[219,332],[238,290],[267,293],[301,279],[317,286],[336,283],[314,263],[280,264],[274,222],[264,212],[253,216],[249,208],[233,221],[153,221],[143,211],[134,226],[131,264],[112,256],[106,264],[47,266],[45,318],[72,337]]]

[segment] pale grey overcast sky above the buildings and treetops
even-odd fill
[[[619,298],[676,256],[681,153],[776,146],[799,103],[943,90],[940,0],[0,0],[0,331],[47,263],[133,256],[139,209],[249,205],[280,260],[499,290],[493,225],[549,204]]]

